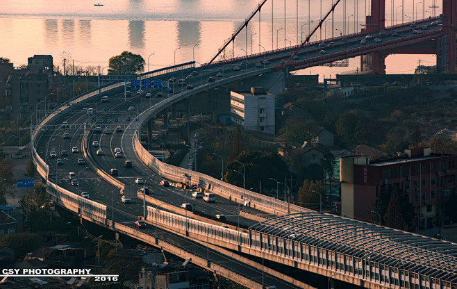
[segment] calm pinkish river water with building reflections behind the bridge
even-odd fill
[[[51,54],[56,66],[62,67],[63,58],[66,58],[81,67],[99,65],[103,69],[111,56],[126,50],[140,54],[146,61],[146,70],[148,60],[149,70],[192,58],[206,63],[256,8],[258,1],[1,0],[0,57],[10,58],[18,66],[26,64],[27,58],[34,54]],[[346,25],[342,22],[342,6],[336,8],[335,19],[340,21],[335,20],[333,35],[339,35],[339,30],[344,29],[354,33],[355,28],[362,27],[360,24],[369,7],[365,0],[355,1],[358,1],[356,9],[354,0],[346,1]],[[386,0],[386,19],[390,24],[401,22],[401,8],[398,8],[401,1],[396,1]],[[422,10],[426,11],[426,16],[431,14],[428,11],[431,8],[427,7],[433,0],[423,1],[425,10],[421,7],[422,2],[416,5],[415,15],[419,18],[423,15]],[[413,15],[413,0],[404,2],[404,21],[408,21]],[[103,6],[94,6],[94,3]],[[330,0],[274,0],[273,8],[272,0],[267,1],[260,22],[256,15],[249,25],[247,37],[243,31],[236,39],[235,56],[244,55],[241,48],[255,53],[263,48],[271,50],[297,44],[308,35],[308,27],[312,29],[318,22],[320,3],[324,15],[331,7]],[[309,14],[308,6],[311,8]],[[390,13],[395,10],[391,10],[391,6],[397,8],[396,13]],[[311,40],[331,36],[331,22],[326,22],[325,28],[322,32],[317,31]],[[418,59],[422,59],[424,65],[435,65],[435,56],[392,55],[386,59],[387,72],[413,73]],[[313,67],[299,74],[319,74],[322,79],[324,75],[355,72],[356,67],[360,67],[360,58],[351,58],[349,67]],[[106,73],[106,69],[103,72]]]

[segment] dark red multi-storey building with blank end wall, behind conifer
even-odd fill
[[[440,210],[456,188],[457,156],[431,154],[431,149],[406,149],[397,158],[369,160],[369,156],[340,158],[342,215],[373,222],[376,199],[396,186],[408,194],[417,229],[438,226]],[[441,204],[441,209],[440,209]]]

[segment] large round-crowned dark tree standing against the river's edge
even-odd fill
[[[123,51],[109,60],[108,74],[136,74],[144,71],[144,59],[140,54]]]

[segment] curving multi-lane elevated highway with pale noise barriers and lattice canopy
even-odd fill
[[[438,31],[439,29],[437,28],[436,30]],[[432,29],[430,33],[436,32]],[[357,38],[360,35],[354,37]],[[401,38],[404,41],[409,41],[419,39],[419,36],[404,35]],[[357,41],[351,40],[351,43],[354,42],[351,45],[357,44]],[[379,45],[381,44],[382,42],[379,43]],[[344,45],[340,44],[338,46],[334,43],[331,49],[335,47],[335,49],[342,49],[343,51],[354,50],[354,47],[344,47]],[[373,47],[365,48],[372,49]],[[304,63],[295,63],[294,67],[297,68],[299,65],[306,65],[306,63],[312,61],[324,61],[320,60],[321,57],[326,57],[325,61],[332,60],[334,57],[332,54],[337,53],[319,53],[318,56],[317,49],[319,47],[315,47],[315,49],[316,51],[312,51],[312,49],[310,49],[310,52],[303,51],[301,56],[306,54],[309,58]],[[282,53],[284,52],[282,51]],[[363,49],[358,51],[358,53],[366,52]],[[288,55],[292,56],[292,53],[289,51]],[[259,286],[261,286],[259,279],[253,279],[253,276],[258,273],[258,264],[252,263],[250,265],[251,270],[254,270],[251,272],[248,272],[245,267],[220,267],[220,263],[205,261],[204,255],[201,256],[201,251],[197,249],[194,251],[194,245],[186,244],[184,245],[186,249],[179,247],[180,245],[178,244],[182,244],[179,236],[186,236],[187,238],[185,239],[188,242],[199,243],[200,247],[204,244],[206,237],[208,245],[209,240],[213,244],[214,250],[212,254],[216,254],[216,251],[220,253],[221,249],[215,247],[217,245],[232,251],[250,254],[251,256],[265,256],[269,260],[274,260],[283,265],[316,272],[322,276],[333,276],[333,279],[340,279],[344,282],[349,279],[349,283],[365,288],[389,288],[392,286],[452,288],[452,286],[455,286],[456,279],[454,276],[457,276],[457,274],[455,272],[456,267],[453,264],[456,263],[455,254],[457,250],[454,244],[427,238],[421,239],[416,236],[412,238],[408,233],[362,224],[340,217],[321,215],[299,206],[288,206],[283,201],[258,195],[255,192],[243,191],[241,188],[223,183],[210,176],[163,164],[153,158],[140,145],[138,128],[144,122],[153,119],[158,112],[166,109],[167,106],[231,81],[240,81],[272,72],[281,66],[281,60],[284,56],[279,53],[275,57],[269,58],[269,63],[264,63],[262,67],[255,67],[254,63],[263,61],[263,57],[265,56],[260,55],[249,58],[246,66],[243,67],[244,69],[240,70],[233,68],[240,66],[238,61],[241,58],[201,67],[201,78],[194,77],[189,81],[195,87],[193,90],[175,86],[173,88],[174,95],[172,94],[171,97],[165,99],[148,99],[148,101],[144,101],[142,97],[130,97],[127,101],[122,101],[124,99],[123,83],[114,83],[84,94],[56,108],[56,110],[53,110],[47,117],[42,119],[40,124],[34,126],[35,129],[32,133],[33,158],[38,172],[47,179],[47,190],[51,198],[60,206],[72,210],[86,220],[148,242],[151,245],[158,245],[174,253],[178,252],[178,256],[183,258],[188,258],[186,256],[192,255],[192,262],[217,271],[219,274],[235,279],[251,288],[260,288]],[[160,72],[143,74],[140,79],[154,77],[155,79],[167,80],[171,76],[178,76],[179,74],[185,76],[194,69],[194,63],[191,63],[185,65],[185,67],[177,66],[172,69],[163,69]],[[196,70],[198,71],[199,69]],[[221,72],[222,76],[216,77],[215,74],[217,72]],[[208,76],[215,77],[217,81],[205,81],[203,83],[203,77],[206,79]],[[156,92],[158,91],[153,90],[153,95]],[[108,95],[110,100],[106,103],[101,103],[100,99],[103,95]],[[94,106],[94,104],[97,104],[94,116],[82,113],[84,106],[87,108]],[[128,108],[131,106],[134,109],[129,111]],[[68,122],[69,126],[63,127],[63,122]],[[122,126],[122,133],[113,132],[117,125]],[[95,132],[97,126],[100,126],[99,133]],[[107,134],[107,129],[110,129],[113,133]],[[70,133],[70,138],[63,138],[64,133]],[[99,141],[99,148],[105,152],[103,156],[94,154],[96,148],[91,145],[93,140]],[[72,147],[78,147],[78,150],[83,151],[83,153],[73,154],[71,152]],[[123,158],[115,158],[113,156],[115,147],[121,147]],[[64,157],[65,165],[60,168],[53,158],[49,158],[49,152],[56,151],[57,154],[60,154],[63,149],[68,151],[68,156]],[[81,156],[85,157],[88,165],[78,165],[78,157]],[[133,168],[127,169],[123,166],[123,161],[126,158],[133,160]],[[110,176],[108,174],[110,168],[117,168],[119,175]],[[69,183],[68,172],[77,174],[80,181],[78,188]],[[249,231],[244,232],[190,220],[188,218],[190,216],[182,216],[187,214],[185,212],[181,212],[181,216],[174,214],[172,217],[160,217],[163,214],[168,214],[164,210],[161,210],[160,213],[157,211],[155,206],[161,206],[160,202],[166,202],[177,207],[179,204],[188,201],[190,196],[183,190],[160,187],[158,182],[163,178],[179,181],[183,174],[192,174],[192,183],[211,184],[211,190],[219,195],[216,205],[204,204],[203,201],[197,200],[190,201],[195,204],[196,208],[204,212],[238,215],[238,204],[242,204],[243,200],[249,199],[251,208],[247,210],[252,214],[284,215],[289,212],[294,213],[294,215],[273,218],[271,222],[279,222],[284,218],[285,220],[293,221],[297,220],[297,217],[301,217],[302,219],[310,220],[311,223],[319,223],[322,222],[322,219],[325,219],[326,222],[334,222],[338,226],[354,227],[356,229],[355,231],[349,230],[347,232],[334,231],[332,229],[333,226],[326,225],[306,231],[292,222],[290,227],[287,227],[288,230],[285,230],[286,232],[284,232],[283,225],[282,233],[277,231],[278,229],[272,233],[271,231],[263,231],[265,226],[272,226],[272,224],[268,223],[270,221],[255,224],[256,222],[241,218],[240,222],[251,226]],[[142,196],[139,199],[135,199],[134,192],[138,186],[135,185],[134,179],[137,177],[142,177],[146,180],[147,186],[152,191],[150,197],[155,199],[154,201],[148,199],[148,203],[155,206],[148,206],[146,213],[144,213],[144,207],[142,206]],[[133,204],[122,204],[119,201],[119,188],[133,188]],[[84,199],[79,196],[79,192],[83,191],[90,192],[90,199]],[[147,198],[144,197],[144,199]],[[179,211],[177,210],[177,212]],[[151,231],[143,232],[134,229],[132,226],[133,221],[139,215],[144,215],[149,224],[156,224],[167,231],[174,231],[177,237],[159,230],[156,238]],[[170,220],[173,220],[172,224],[169,223]],[[235,217],[232,218],[232,221],[235,221]],[[276,224],[273,223],[272,229],[277,226]],[[317,231],[324,232],[322,238],[312,238]],[[331,236],[335,237],[334,234],[338,233],[349,234],[354,239],[354,244],[342,247],[338,240],[333,240],[332,242],[327,240]],[[362,240],[362,237],[365,236],[364,233],[367,233],[369,238]],[[390,238],[389,236],[397,237]],[[356,241],[359,239],[360,242],[357,243]],[[406,239],[418,240],[417,243],[419,245],[415,241],[404,242]],[[366,251],[367,247],[371,247],[374,244],[376,244],[376,247],[373,247],[369,252]],[[390,249],[383,249],[384,245],[389,245]],[[197,245],[197,247],[199,246]],[[338,249],[340,247],[342,249]],[[446,249],[438,251],[433,249],[435,247]],[[188,248],[192,248],[192,250]],[[410,252],[417,251],[417,254],[406,254],[408,250]],[[403,253],[399,254],[399,252]],[[224,254],[231,255],[233,253],[226,251]],[[240,257],[234,256],[231,259],[224,260],[228,261],[228,263],[237,264],[236,258]],[[426,266],[422,261],[424,258],[427,260]],[[247,263],[246,261],[245,265],[249,265]],[[305,286],[291,277],[288,277],[288,281],[285,281],[285,283],[280,283],[277,278],[278,274],[281,273],[274,272],[274,270],[269,271],[269,273],[271,276],[266,277],[269,279],[268,281],[265,279],[265,283],[275,285],[276,288],[294,288],[294,286],[304,288],[303,286]]]

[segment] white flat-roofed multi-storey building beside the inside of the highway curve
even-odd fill
[[[251,92],[230,92],[231,119],[244,126],[247,131],[274,134],[275,96],[262,87],[251,88]]]

